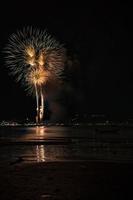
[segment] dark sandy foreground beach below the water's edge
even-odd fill
[[[0,163],[0,200],[133,199],[133,164]]]

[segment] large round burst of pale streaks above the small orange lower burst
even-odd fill
[[[59,78],[64,67],[65,51],[46,31],[31,27],[12,34],[5,48],[6,63],[16,81],[25,84],[27,71],[43,62],[44,67]],[[39,58],[38,58],[39,57]]]

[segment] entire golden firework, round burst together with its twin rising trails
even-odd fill
[[[52,77],[54,79],[61,77],[65,63],[65,49],[46,31],[28,27],[11,35],[5,53],[10,74],[17,82],[21,82],[29,94],[35,94],[37,113],[39,98],[41,99],[40,112],[43,115],[42,88]]]

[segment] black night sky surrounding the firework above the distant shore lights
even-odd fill
[[[75,113],[133,116],[132,9],[116,2],[0,5],[0,119],[35,113],[35,99],[8,75],[2,52],[9,36],[23,26],[47,29],[67,49],[64,86],[47,102],[53,118]]]

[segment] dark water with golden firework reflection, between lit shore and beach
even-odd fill
[[[3,128],[0,142],[0,160],[133,161],[132,130],[99,133],[87,127]]]

